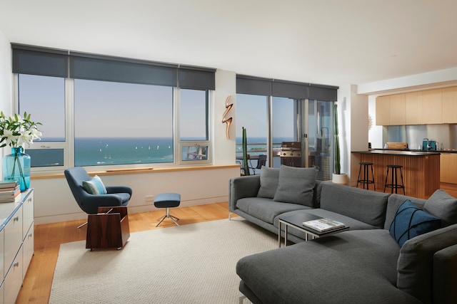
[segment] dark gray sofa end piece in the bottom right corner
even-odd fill
[[[433,303],[457,303],[457,244],[433,255]]]

